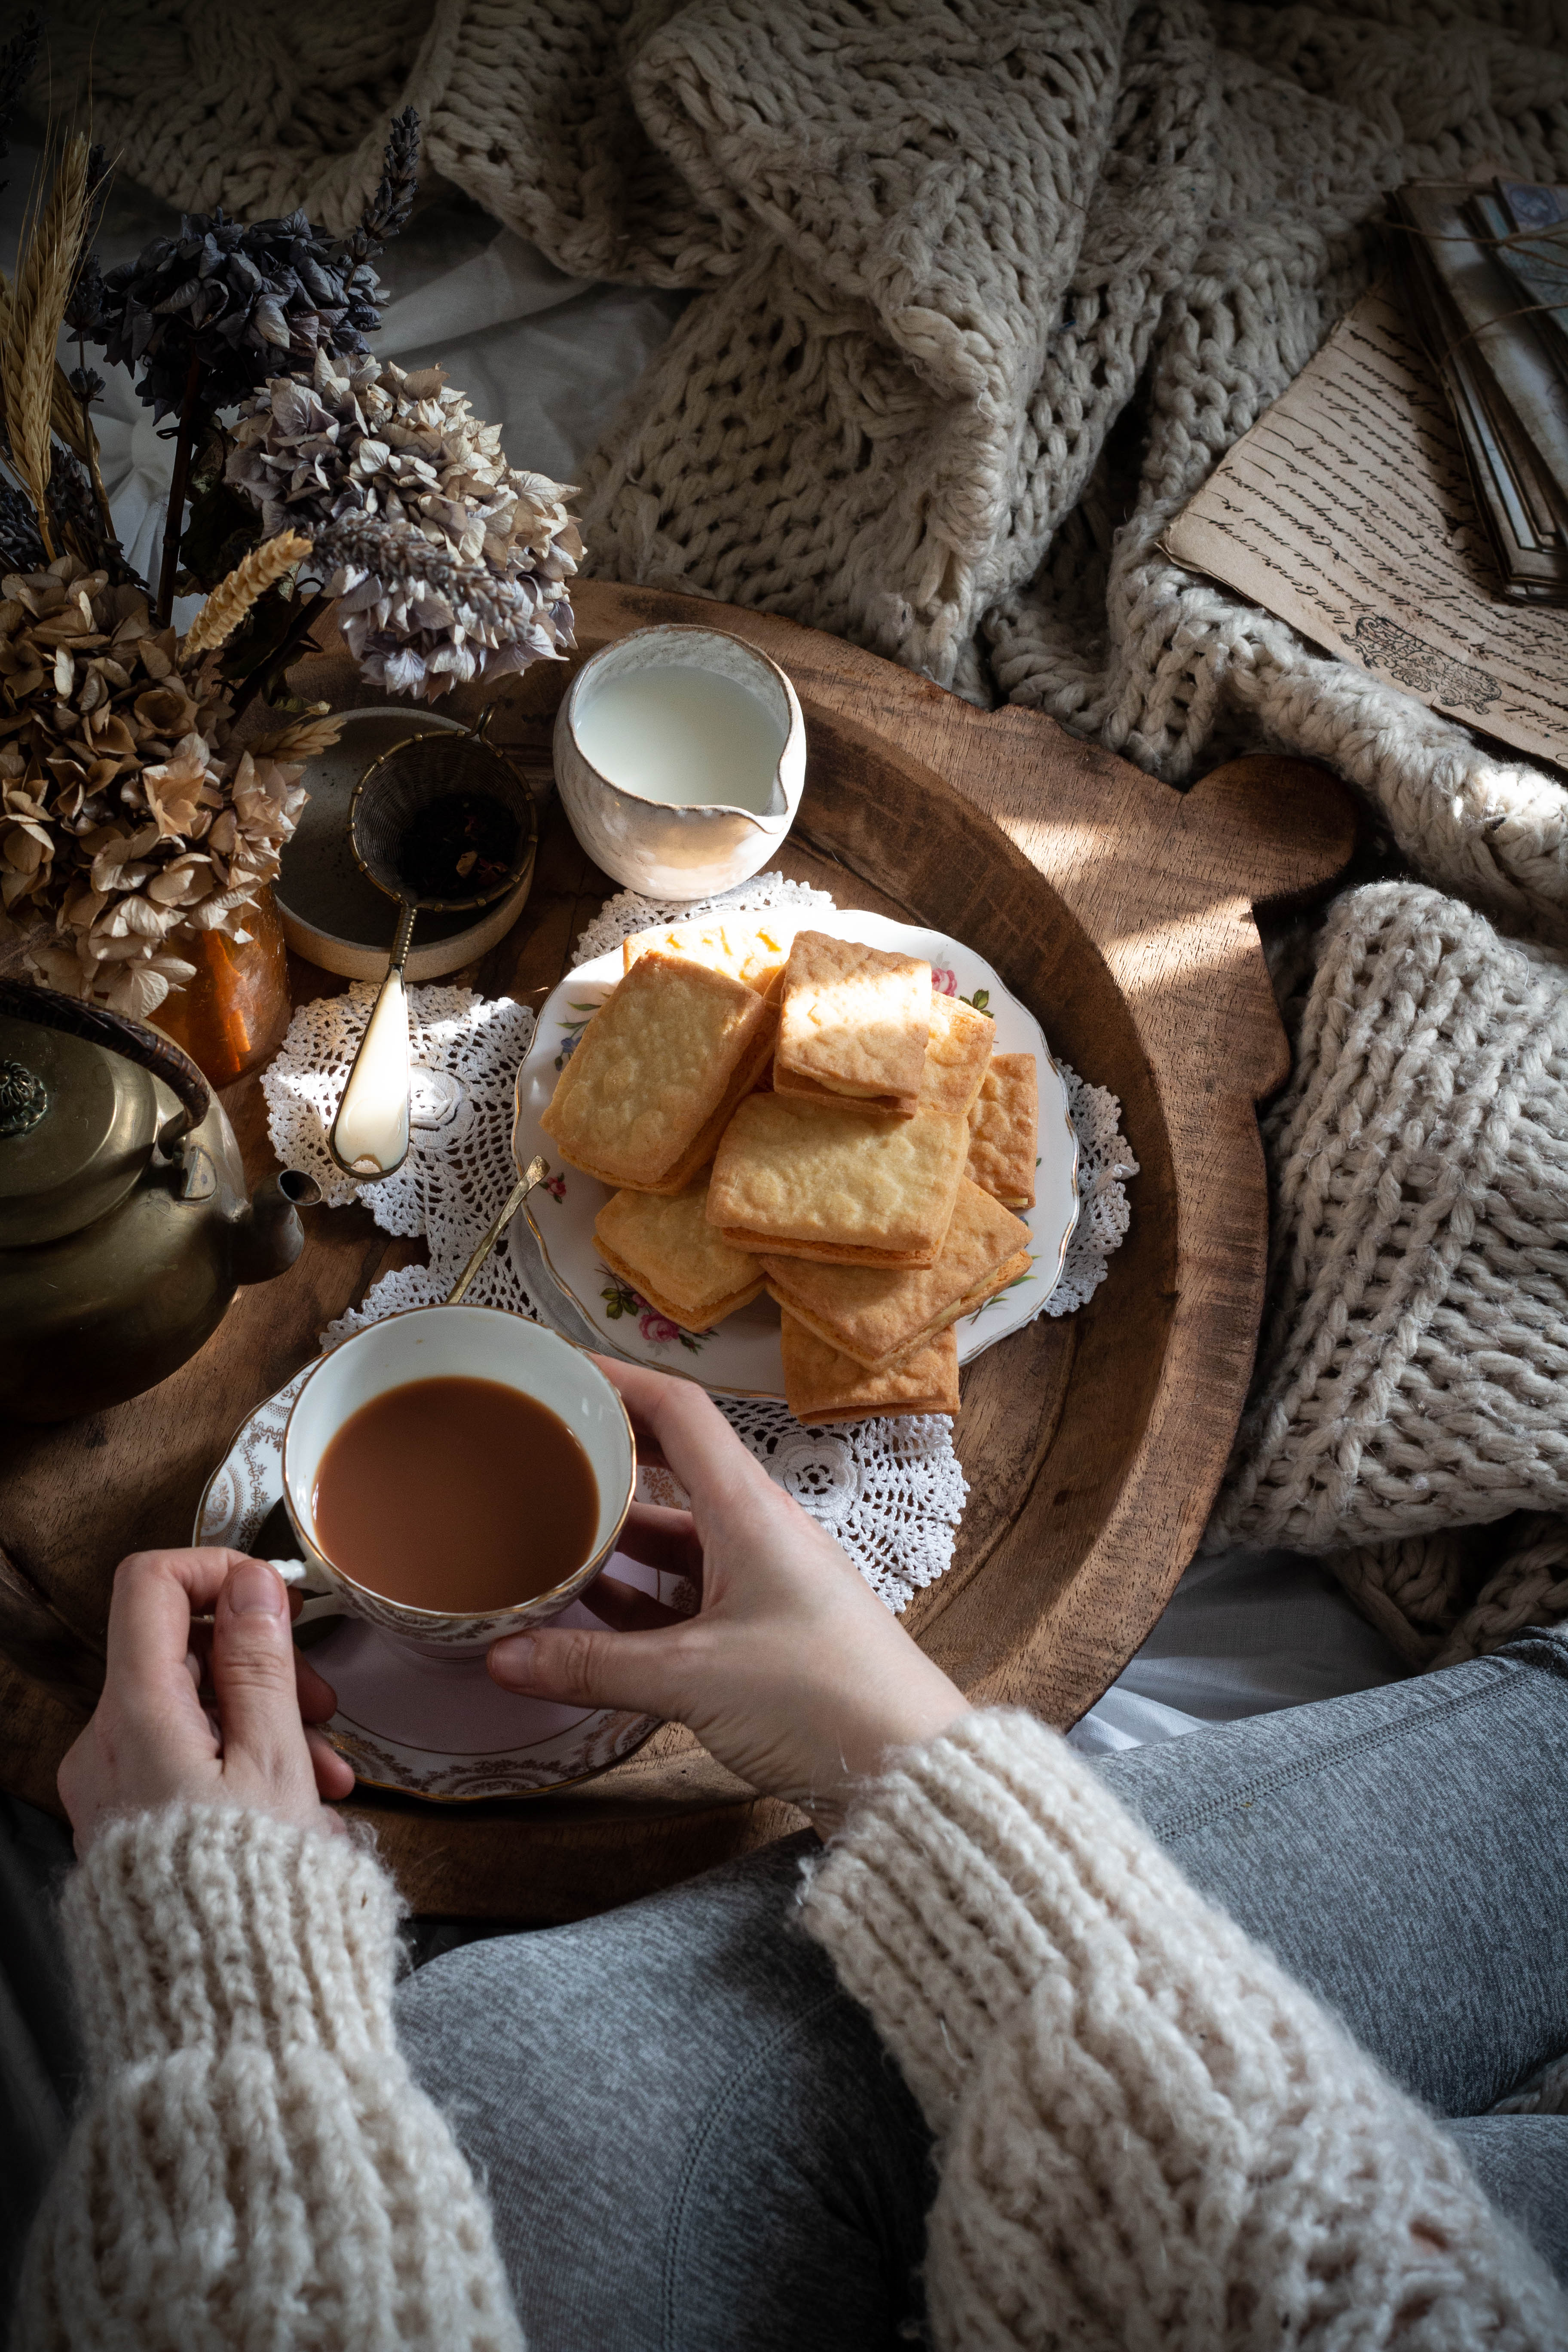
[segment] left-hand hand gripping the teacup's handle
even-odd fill
[[[207,1609],[209,1639],[190,1623]],[[59,1769],[75,1851],[115,1813],[179,1802],[339,1830],[322,1799],[346,1797],[355,1776],[306,1729],[334,1705],[294,1649],[289,1592],[266,1559],[219,1548],[132,1552],[115,1569],[103,1696]]]

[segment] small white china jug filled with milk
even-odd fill
[[[708,898],[755,875],[795,823],[806,722],[785,673],[743,637],[635,628],[571,680],[555,781],[607,875],[649,898]]]

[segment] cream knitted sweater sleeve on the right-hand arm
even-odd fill
[[[802,1903],[938,2133],[943,2352],[1568,2343],[1455,2143],[1032,1717],[903,1755]]]

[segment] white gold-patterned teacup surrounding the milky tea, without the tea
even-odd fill
[[[416,1609],[371,1592],[327,1555],[315,1526],[313,1498],[322,1454],[343,1423],[388,1388],[442,1378],[501,1381],[548,1404],[588,1454],[599,1489],[592,1548],[581,1569],[548,1592],[477,1616]],[[637,1442],[614,1383],[571,1341],[503,1308],[409,1308],[355,1331],[313,1367],[282,1432],[282,1496],[301,1545],[306,1581],[324,1585],[348,1616],[447,1651],[482,1649],[501,1635],[543,1625],[569,1609],[614,1552],[632,1508],[635,1482]],[[520,1494],[517,1510],[527,1508],[529,1501]]]

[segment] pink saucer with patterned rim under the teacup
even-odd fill
[[[308,1371],[310,1367],[306,1367]],[[244,1550],[282,1503],[282,1432],[306,1371],[268,1397],[237,1430],[207,1479],[193,1543]],[[682,1606],[684,1578],[661,1576],[614,1552],[607,1573]],[[574,1602],[559,1625],[597,1625]],[[517,1698],[484,1672],[484,1658],[449,1658],[343,1616],[310,1646],[310,1663],[339,1693],[324,1724],[331,1745],[369,1788],[435,1802],[538,1797],[618,1764],[658,1729],[654,1715],[557,1708]]]

